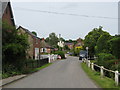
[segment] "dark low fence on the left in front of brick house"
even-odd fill
[[[47,63],[49,63],[49,59],[44,58],[44,59],[40,59],[40,60],[34,60],[34,61],[26,62],[25,67],[27,67],[27,68],[37,68],[37,67],[43,66]]]

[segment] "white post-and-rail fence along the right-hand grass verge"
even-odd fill
[[[109,70],[109,69],[106,69],[104,68],[103,66],[99,66],[97,64],[94,64],[94,63],[91,63],[90,60],[87,60],[87,59],[82,59],[82,61],[84,63],[87,64],[87,66],[89,68],[91,68],[92,70],[95,70],[95,67],[99,68],[99,71],[100,71],[100,76],[101,78],[103,78],[105,75],[105,71],[107,72],[110,72],[110,73],[113,73],[114,75],[114,80],[115,80],[115,84],[118,86],[119,85],[119,76],[120,76],[120,73],[118,71],[113,71],[113,70]]]

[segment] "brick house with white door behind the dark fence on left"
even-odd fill
[[[30,32],[28,29],[25,29],[21,26],[17,28],[18,34],[27,34],[28,35],[28,43],[29,43],[29,49],[27,52],[27,58],[28,59],[39,59],[40,58],[40,38],[35,36],[32,32]]]

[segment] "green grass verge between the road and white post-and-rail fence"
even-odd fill
[[[112,90],[120,90],[120,86],[115,86],[115,82],[113,79],[104,77],[100,77],[100,73],[96,71],[92,71],[90,68],[87,67],[85,63],[81,63],[81,67],[86,72],[86,74],[101,88],[109,88]]]

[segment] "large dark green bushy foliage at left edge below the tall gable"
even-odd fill
[[[2,23],[2,63],[4,71],[21,69],[26,58],[28,42],[26,35],[18,35],[15,27]],[[7,65],[7,66],[6,66]],[[17,68],[16,68],[17,67]]]

